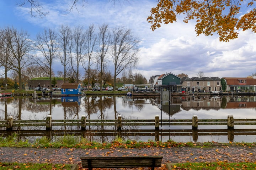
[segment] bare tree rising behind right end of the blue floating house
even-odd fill
[[[71,68],[76,75],[76,83],[79,81],[79,65],[80,62],[83,60],[84,53],[86,50],[86,36],[84,33],[84,29],[82,26],[75,27],[73,33],[73,40],[74,40],[74,51],[73,48],[70,49],[69,55],[71,59]],[[73,55],[74,52],[74,55]]]

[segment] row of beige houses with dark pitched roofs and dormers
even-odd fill
[[[187,91],[220,91],[222,86],[218,77],[183,77],[181,79],[182,90]]]

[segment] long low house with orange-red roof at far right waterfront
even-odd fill
[[[226,91],[251,90],[256,91],[256,79],[223,77],[226,82]]]

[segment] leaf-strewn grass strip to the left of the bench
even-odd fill
[[[0,163],[1,170],[70,170],[71,165],[69,164],[48,164],[48,163]]]

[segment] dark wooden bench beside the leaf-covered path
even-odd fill
[[[82,168],[144,168],[160,167],[162,156],[149,157],[81,157]]]

